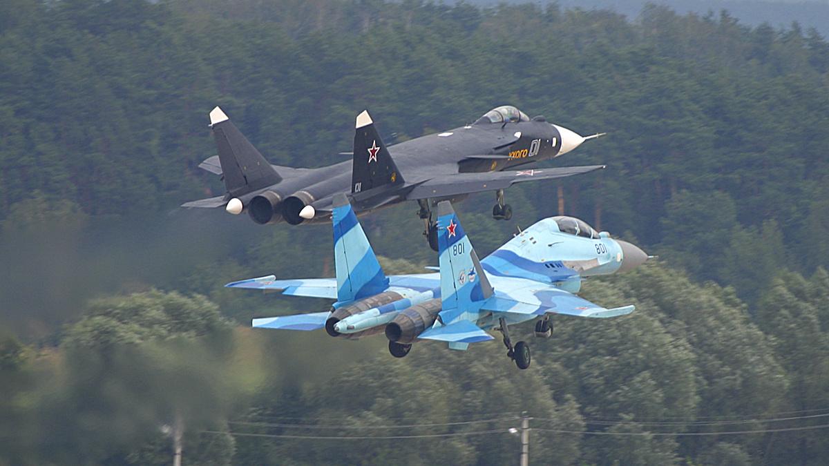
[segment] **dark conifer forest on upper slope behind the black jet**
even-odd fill
[[[274,163],[319,166],[350,148],[360,109],[402,140],[510,102],[610,133],[557,161],[608,164],[565,182],[569,213],[675,250],[666,231],[689,226],[666,218],[708,222],[669,208],[676,197],[721,192],[741,227],[710,228],[774,220],[788,266],[827,265],[810,231],[827,221],[829,43],[796,25],[655,6],[630,23],[530,4],[13,3],[0,29],[2,212],[32,189],[91,215],[202,197],[215,104]],[[554,194],[523,188],[542,213]]]

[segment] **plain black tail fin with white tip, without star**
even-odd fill
[[[210,113],[210,126],[219,149],[221,172],[230,196],[242,196],[282,181],[274,167],[270,166],[219,107]]]

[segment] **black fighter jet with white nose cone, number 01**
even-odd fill
[[[585,140],[544,117],[530,119],[510,105],[492,109],[475,123],[386,147],[368,111],[356,118],[351,161],[319,168],[272,165],[236,129],[219,107],[210,113],[219,154],[199,167],[221,175],[227,192],[190,201],[184,207],[225,207],[247,211],[261,225],[331,221],[335,194],[349,193],[360,214],[400,201],[417,201],[424,235],[437,250],[437,227],[431,207],[457,201],[473,192],[495,192],[492,216],[509,220],[512,208],[504,189],[516,182],[547,180],[592,172],[604,165],[528,170],[511,168],[555,158]]]

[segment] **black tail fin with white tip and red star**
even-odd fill
[[[357,115],[354,133],[351,192],[364,192],[387,184],[402,184],[395,161],[377,133],[368,110]]]

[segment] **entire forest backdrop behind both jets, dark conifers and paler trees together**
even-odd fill
[[[216,104],[297,167],[347,157],[366,108],[387,143],[500,104],[608,132],[545,163],[607,169],[511,188],[512,221],[456,209],[485,255],[561,187],[659,259],[586,282],[637,310],[556,318],[528,371],[252,331],[328,303],[222,285],[330,276],[330,226],[177,209],[223,191],[196,167]],[[389,273],[437,262],[415,210],[365,217]],[[0,464],[167,464],[177,434],[185,464],[511,464],[523,411],[534,464],[825,464],[829,41],[654,5],[7,0],[0,264]],[[339,435],[413,437],[284,437]]]

